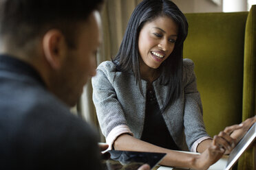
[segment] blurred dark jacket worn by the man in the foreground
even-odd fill
[[[31,66],[0,55],[0,169],[100,169],[97,141]]]

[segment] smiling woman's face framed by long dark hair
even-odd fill
[[[140,66],[157,69],[174,49],[178,25],[167,16],[159,16],[145,23],[138,37]]]

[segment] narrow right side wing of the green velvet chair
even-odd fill
[[[256,5],[250,8],[244,38],[243,117],[256,115]],[[238,169],[256,169],[256,147],[248,149],[239,158]]]

